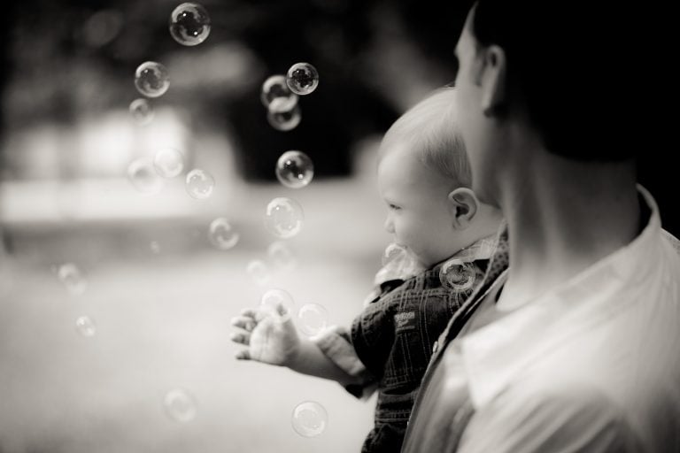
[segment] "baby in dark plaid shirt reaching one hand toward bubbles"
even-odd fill
[[[390,259],[350,329],[303,338],[282,306],[232,320],[237,358],[336,380],[352,395],[377,390],[375,426],[362,452],[398,451],[437,338],[482,280],[502,220],[470,189],[452,110],[454,88],[416,104],[390,127],[378,156]]]

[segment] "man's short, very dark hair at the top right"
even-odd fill
[[[645,111],[632,107],[635,88],[620,88],[637,64],[622,3],[478,0],[474,8],[472,35],[504,50],[508,102],[523,105],[547,150],[602,162],[636,155],[630,139],[641,138]]]

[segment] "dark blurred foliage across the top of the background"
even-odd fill
[[[295,0],[202,2],[212,31],[185,48],[167,30],[179,2],[27,0],[4,30],[6,131],[125,109],[139,96],[137,65],[164,63],[172,85],[156,104],[181,106],[197,129],[231,134],[246,179],[274,177],[283,150],[305,150],[318,176],[351,172],[352,145],[451,81],[452,48],[467,2]],[[450,30],[450,33],[442,33]],[[402,51],[399,51],[402,50]],[[261,83],[308,61],[319,88],[300,99],[303,120],[270,127]]]

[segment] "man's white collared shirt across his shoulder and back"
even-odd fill
[[[459,451],[680,451],[680,257],[639,190],[633,242],[446,349],[475,408]]]

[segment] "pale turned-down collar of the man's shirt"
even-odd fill
[[[475,407],[488,403],[523,367],[563,342],[565,335],[573,334],[568,328],[556,329],[558,324],[585,326],[611,316],[622,303],[612,295],[639,285],[647,273],[653,272],[659,261],[656,254],[661,219],[653,197],[641,186],[638,191],[651,215],[630,244],[535,301],[455,341],[460,346]],[[630,297],[629,302],[636,300]]]

